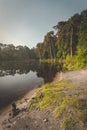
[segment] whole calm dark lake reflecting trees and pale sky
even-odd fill
[[[38,62],[0,62],[0,110],[33,88],[52,81],[60,66]]]

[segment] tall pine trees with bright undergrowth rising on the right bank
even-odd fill
[[[36,46],[39,59],[59,60],[68,69],[87,66],[87,10],[53,28]]]

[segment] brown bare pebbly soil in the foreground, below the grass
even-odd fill
[[[22,112],[4,124],[4,130],[58,130],[59,127],[49,111]]]

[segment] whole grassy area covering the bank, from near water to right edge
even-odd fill
[[[28,109],[51,110],[61,120],[61,128],[70,130],[76,122],[87,122],[87,95],[84,94],[87,90],[81,89],[81,86],[67,80],[45,84],[37,89],[36,97],[29,102]]]

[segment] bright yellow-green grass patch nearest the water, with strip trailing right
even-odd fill
[[[75,89],[75,86],[70,84],[69,81],[63,80],[58,83],[49,83],[43,85],[37,89],[37,95],[34,100],[29,103],[29,108],[44,109],[55,106],[59,106],[64,98],[65,94],[63,90]],[[43,98],[39,98],[40,93],[43,93]]]

